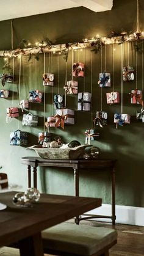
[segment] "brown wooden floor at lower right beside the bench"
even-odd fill
[[[73,222],[73,220],[68,222]],[[80,225],[101,226],[117,230],[118,243],[110,249],[109,256],[144,255],[144,227],[123,224],[116,224],[115,227],[113,227],[112,224],[96,221],[81,221]]]

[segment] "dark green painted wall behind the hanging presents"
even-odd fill
[[[142,12],[144,3],[140,1],[140,27],[144,30],[144,18]],[[111,11],[95,13],[84,7],[62,10],[59,12],[35,15],[26,18],[18,18],[13,21],[14,27],[14,48],[18,47],[23,38],[35,43],[48,37],[54,43],[77,42],[82,38],[93,37],[95,34],[107,35],[110,31],[135,30],[136,26],[136,1],[113,1]],[[0,22],[1,42],[0,49],[10,49],[10,21]],[[135,60],[135,43],[129,43],[129,64],[137,69],[137,87],[142,89],[142,53],[137,53],[137,65]],[[114,76],[112,82],[114,89],[121,91],[121,46],[115,45],[114,52]],[[104,70],[104,47],[102,51],[103,70]],[[92,57],[92,61],[91,61]],[[79,78],[79,92],[85,88],[85,92],[92,92],[93,117],[95,112],[100,109],[100,89],[98,86],[99,72],[101,71],[101,53],[95,54],[90,49],[76,51],[74,59],[85,62],[85,80]],[[14,105],[18,106],[19,100],[25,99],[29,95],[29,88],[44,90],[41,82],[43,74],[43,54],[40,60],[34,57],[31,63],[28,57],[22,58],[21,65],[21,86],[19,86],[19,62],[15,59],[15,85],[14,85]],[[2,73],[3,59],[0,59],[0,72]],[[59,70],[58,70],[59,62]],[[71,52],[68,57],[67,78],[71,79]],[[31,73],[29,72],[31,65]],[[123,45],[123,65],[128,65],[128,43]],[[106,70],[112,75],[112,45],[106,46]],[[52,96],[54,93],[64,93],[65,84],[65,60],[63,56],[57,54],[46,54],[46,71],[53,71],[55,76],[54,87],[46,87],[46,117],[54,114],[52,106]],[[59,71],[59,72],[58,72]],[[59,73],[59,78],[58,78]],[[92,76],[91,76],[92,74]],[[91,84],[92,77],[92,84]],[[25,82],[24,82],[25,81]],[[58,83],[59,81],[59,83]],[[85,82],[84,82],[85,81]],[[121,111],[121,105],[109,106],[106,104],[106,92],[112,91],[111,88],[103,89],[103,110],[109,114],[109,125],[99,129],[101,138],[93,142],[93,145],[101,148],[101,158],[117,158],[117,183],[116,183],[116,203],[117,205],[132,205],[144,207],[143,189],[143,123],[136,120],[136,111],[140,111],[140,106],[130,104],[131,89],[135,89],[134,82],[123,84],[123,112],[131,114],[131,125],[124,125],[115,129],[113,124],[113,113]],[[2,88],[2,86],[1,86]],[[21,189],[27,187],[26,166],[21,164],[20,158],[23,156],[35,156],[33,151],[23,147],[9,145],[9,133],[18,128],[29,132],[29,145],[37,144],[38,132],[43,131],[43,103],[31,103],[31,112],[40,116],[37,128],[21,126],[22,113],[19,119],[12,119],[7,124],[5,122],[5,109],[12,106],[12,85],[7,84],[5,89],[10,90],[9,99],[0,99],[0,163],[2,171],[9,175],[9,183],[16,183]],[[65,131],[59,128],[51,128],[51,133],[59,134],[65,143],[77,139],[82,144],[85,142],[84,131],[91,128],[91,113],[77,111],[77,95],[68,95],[67,108],[75,110],[75,125],[66,126]],[[39,169],[38,188],[40,191],[53,194],[74,194],[73,173],[70,169]],[[80,195],[103,197],[103,203],[110,203],[110,174],[107,172],[94,172],[92,170],[82,170],[80,173]]]

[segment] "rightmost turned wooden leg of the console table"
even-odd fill
[[[115,168],[112,169],[112,224],[115,225]]]

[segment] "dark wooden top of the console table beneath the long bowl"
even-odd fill
[[[66,160],[66,159],[43,159],[34,156],[25,156],[21,158],[22,164],[37,163],[37,166],[63,166],[63,167],[114,167],[117,159],[95,159],[95,160]]]

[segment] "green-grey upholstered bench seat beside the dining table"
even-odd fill
[[[75,225],[64,222],[44,230],[42,238],[44,252],[47,254],[108,256],[109,249],[117,243],[117,232],[103,227]],[[13,252],[12,254],[7,254],[5,249],[5,253],[2,256],[8,255],[14,256]],[[16,255],[19,255],[18,250],[15,251]]]

